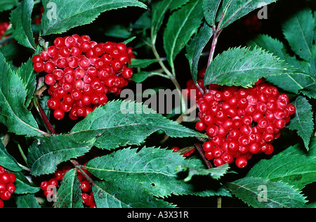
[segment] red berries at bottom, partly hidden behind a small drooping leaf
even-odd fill
[[[72,167],[65,165],[61,169],[55,171],[55,173],[53,174],[53,178],[49,179],[48,181],[41,182],[40,188],[44,191],[44,195],[46,197],[48,197],[48,195],[53,195],[50,185],[53,185],[53,187],[56,188],[55,191],[57,191],[60,187],[60,181],[62,181],[62,178],[64,178],[65,174],[70,169],[72,169]],[[89,177],[91,177],[91,173],[89,171],[87,171],[86,169],[83,170]],[[84,177],[83,174],[81,174],[81,171],[79,171],[79,169],[77,170],[77,176],[80,181],[81,198],[84,204],[86,205],[86,207],[96,208],[96,202],[94,201],[91,183],[86,179],[86,177]]]

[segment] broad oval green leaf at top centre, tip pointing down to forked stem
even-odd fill
[[[200,0],[192,0],[182,8],[173,12],[169,17],[164,30],[164,51],[166,58],[173,69],[173,61],[176,55],[185,47],[203,18],[202,4]]]

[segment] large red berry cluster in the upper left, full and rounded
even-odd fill
[[[45,83],[51,98],[47,101],[55,119],[86,117],[107,103],[107,93],[119,95],[129,84],[134,58],[124,43],[97,43],[88,35],[57,37],[53,46],[32,58],[36,72],[46,72]]]

